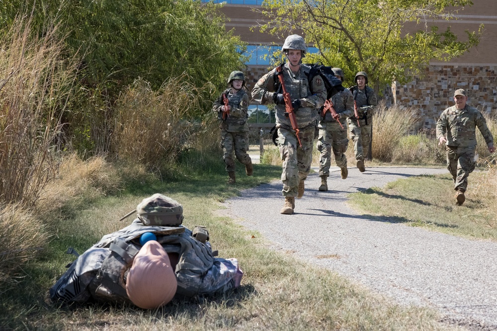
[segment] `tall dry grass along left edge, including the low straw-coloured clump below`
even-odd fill
[[[33,213],[44,186],[55,173],[52,143],[61,129],[74,79],[63,59],[57,26],[30,33],[31,18],[17,18],[0,37],[0,286],[47,241]]]

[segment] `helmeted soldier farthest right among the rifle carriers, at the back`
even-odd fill
[[[378,104],[378,98],[374,90],[366,86],[368,83],[368,75],[364,71],[359,71],[354,78],[356,86],[350,87],[357,113],[359,115],[359,125],[357,119],[352,116],[347,119],[350,138],[354,140],[354,152],[356,166],[360,172],[366,171],[364,160],[369,152],[369,144],[372,135],[372,118]]]

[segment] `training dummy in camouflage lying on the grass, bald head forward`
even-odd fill
[[[215,258],[204,227],[182,226],[177,201],[155,194],[136,212],[129,226],[103,236],[69,266],[50,289],[52,301],[94,299],[154,309],[175,295],[212,295],[240,286],[238,261]]]

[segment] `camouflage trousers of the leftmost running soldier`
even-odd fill
[[[226,171],[235,171],[235,160],[233,151],[238,161],[242,164],[250,162],[248,156],[248,131],[228,132],[221,130],[221,147],[223,147],[223,161],[226,163]]]

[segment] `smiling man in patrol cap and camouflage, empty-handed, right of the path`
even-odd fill
[[[478,109],[468,106],[468,96],[462,88],[454,92],[455,105],[445,109],[436,124],[438,145],[445,143],[447,169],[454,180],[458,205],[466,200],[468,176],[475,170],[476,127],[482,132],[491,153],[495,152],[494,137],[487,121]]]

